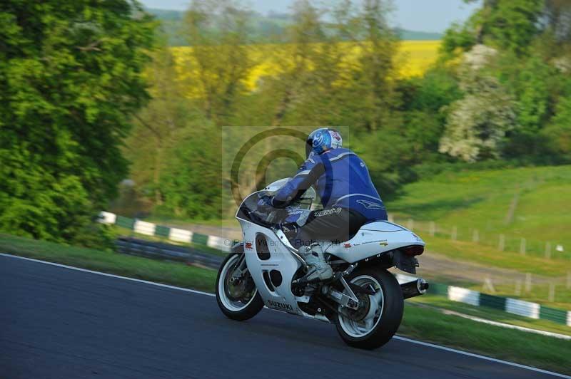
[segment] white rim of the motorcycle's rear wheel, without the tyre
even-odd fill
[[[380,319],[383,318],[385,294],[383,294],[383,287],[380,286],[378,280],[373,278],[373,276],[355,276],[350,282],[358,286],[373,286],[373,289],[375,289],[375,295],[369,295],[370,309],[363,321],[357,322],[338,313],[339,325],[343,331],[353,338],[363,338],[375,330]]]

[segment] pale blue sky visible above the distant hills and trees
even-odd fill
[[[191,0],[139,0],[148,8],[184,11]],[[246,0],[251,7],[267,14],[268,11],[285,13],[293,0]],[[325,2],[325,1],[324,1]],[[465,21],[480,1],[465,4],[463,0],[393,0],[395,6],[391,21],[394,26],[412,31],[442,33],[454,21]]]

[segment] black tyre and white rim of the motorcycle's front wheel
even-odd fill
[[[242,253],[243,254],[243,253]],[[263,300],[258,289],[248,298],[235,298],[231,293],[228,276],[231,276],[233,266],[242,256],[241,253],[230,254],[222,262],[216,277],[216,302],[224,315],[232,320],[245,321],[256,316],[263,308]],[[251,280],[251,279],[250,279]]]

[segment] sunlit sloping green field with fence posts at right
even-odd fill
[[[406,185],[387,208],[395,222],[406,226],[413,219],[429,250],[550,276],[571,271],[569,165],[442,172]],[[452,241],[454,230],[457,241],[465,243]],[[557,245],[564,251],[556,251]]]

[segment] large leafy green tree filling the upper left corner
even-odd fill
[[[0,229],[78,238],[127,170],[154,24],[131,1],[0,5]]]

